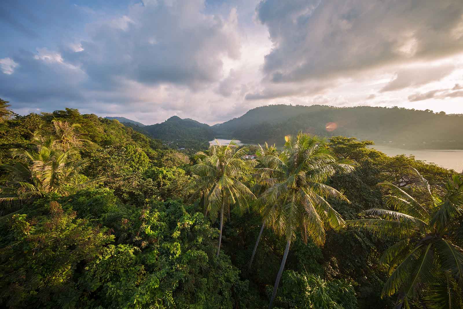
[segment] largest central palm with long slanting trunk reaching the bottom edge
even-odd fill
[[[259,197],[264,222],[287,240],[269,308],[272,308],[291,240],[296,233],[299,231],[305,242],[310,237],[316,245],[322,246],[325,228],[339,230],[344,227],[341,215],[326,199],[348,200],[325,182],[337,171],[350,172],[354,169],[352,161],[339,161],[324,139],[301,132],[285,139],[282,153],[270,155],[267,159],[268,164],[274,167],[259,169],[261,181],[268,186]]]

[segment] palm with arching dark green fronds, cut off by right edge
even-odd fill
[[[365,210],[361,215],[374,218],[348,224],[398,239],[380,259],[390,276],[382,297],[398,293],[396,308],[403,304],[409,308],[409,300],[423,290],[424,300],[434,303],[430,308],[462,308],[463,176],[454,175],[443,186],[433,188],[417,170],[413,173],[410,189],[415,194],[384,182],[390,192],[385,196],[388,209]]]

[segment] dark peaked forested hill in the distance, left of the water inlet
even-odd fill
[[[143,130],[155,139],[197,139],[210,140],[214,138],[212,128],[205,123],[192,119],[181,119],[172,116],[168,120],[155,125],[144,126]]]

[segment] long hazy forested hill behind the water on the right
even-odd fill
[[[225,126],[226,130],[217,132],[229,132],[228,137],[255,143],[281,143],[277,137],[304,131],[326,137],[353,136],[397,148],[463,149],[462,123],[461,114],[429,110],[276,105],[252,109],[213,127]]]

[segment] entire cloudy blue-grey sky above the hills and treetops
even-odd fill
[[[2,0],[0,98],[144,124],[269,104],[463,114],[461,0]]]

